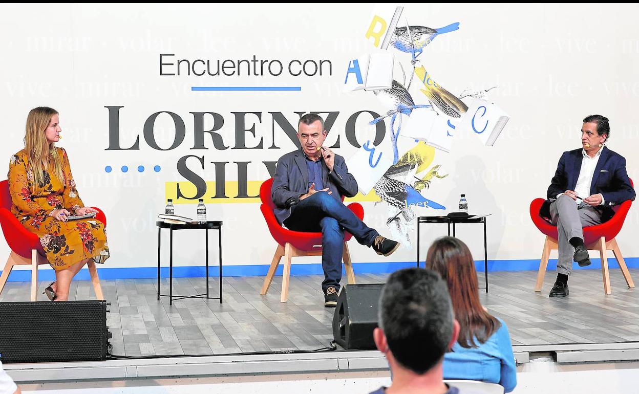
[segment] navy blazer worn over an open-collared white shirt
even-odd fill
[[[619,153],[611,151],[606,146],[601,148],[599,162],[592,175],[590,194],[601,193],[604,205],[595,207],[601,211],[601,222],[606,222],[614,215],[612,206],[621,204],[626,200],[635,200],[635,189],[630,184],[630,178],[626,172],[626,159]],[[559,193],[566,190],[574,190],[581,170],[583,149],[574,149],[564,152],[559,159],[555,176],[548,186],[546,202],[541,206],[539,215],[550,217],[550,200],[557,199]],[[581,196],[587,197],[587,196]]]

